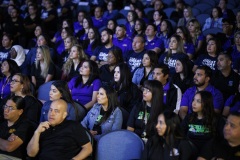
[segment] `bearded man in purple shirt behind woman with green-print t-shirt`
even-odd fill
[[[192,100],[196,92],[208,91],[212,93],[214,110],[216,113],[222,111],[224,105],[222,93],[210,84],[211,69],[208,66],[198,66],[193,77],[194,86],[190,87],[183,94],[179,115],[182,119],[192,113]]]

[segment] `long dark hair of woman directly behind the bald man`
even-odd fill
[[[78,109],[74,104],[74,100],[72,99],[72,95],[70,93],[70,89],[68,88],[68,84],[66,81],[63,80],[57,80],[52,83],[53,86],[57,88],[57,90],[61,93],[62,97],[61,99],[65,100],[67,103],[72,104],[75,113],[76,113],[76,119],[78,120]]]

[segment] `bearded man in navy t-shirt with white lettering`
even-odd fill
[[[93,51],[91,60],[98,63],[98,67],[101,67],[104,64],[107,64],[108,52],[112,49],[120,49],[113,45],[113,32],[112,30],[106,28],[101,32],[101,42],[102,45],[97,47]]]

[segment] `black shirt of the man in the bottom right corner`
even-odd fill
[[[225,139],[221,141],[211,140],[205,145],[199,156],[205,159],[212,159],[215,157],[224,160],[239,160],[240,145],[231,147]]]

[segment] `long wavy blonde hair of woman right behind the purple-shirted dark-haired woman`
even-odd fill
[[[81,63],[82,61],[88,59],[87,55],[86,55],[85,52],[83,51],[82,46],[80,46],[80,45],[78,45],[78,44],[74,44],[74,45],[71,47],[71,49],[72,49],[73,47],[76,47],[76,48],[77,48],[79,63]],[[70,73],[72,65],[73,65],[73,60],[68,56],[68,59],[67,59],[67,61],[63,64],[63,68],[62,68],[64,75],[68,75],[68,74]]]

